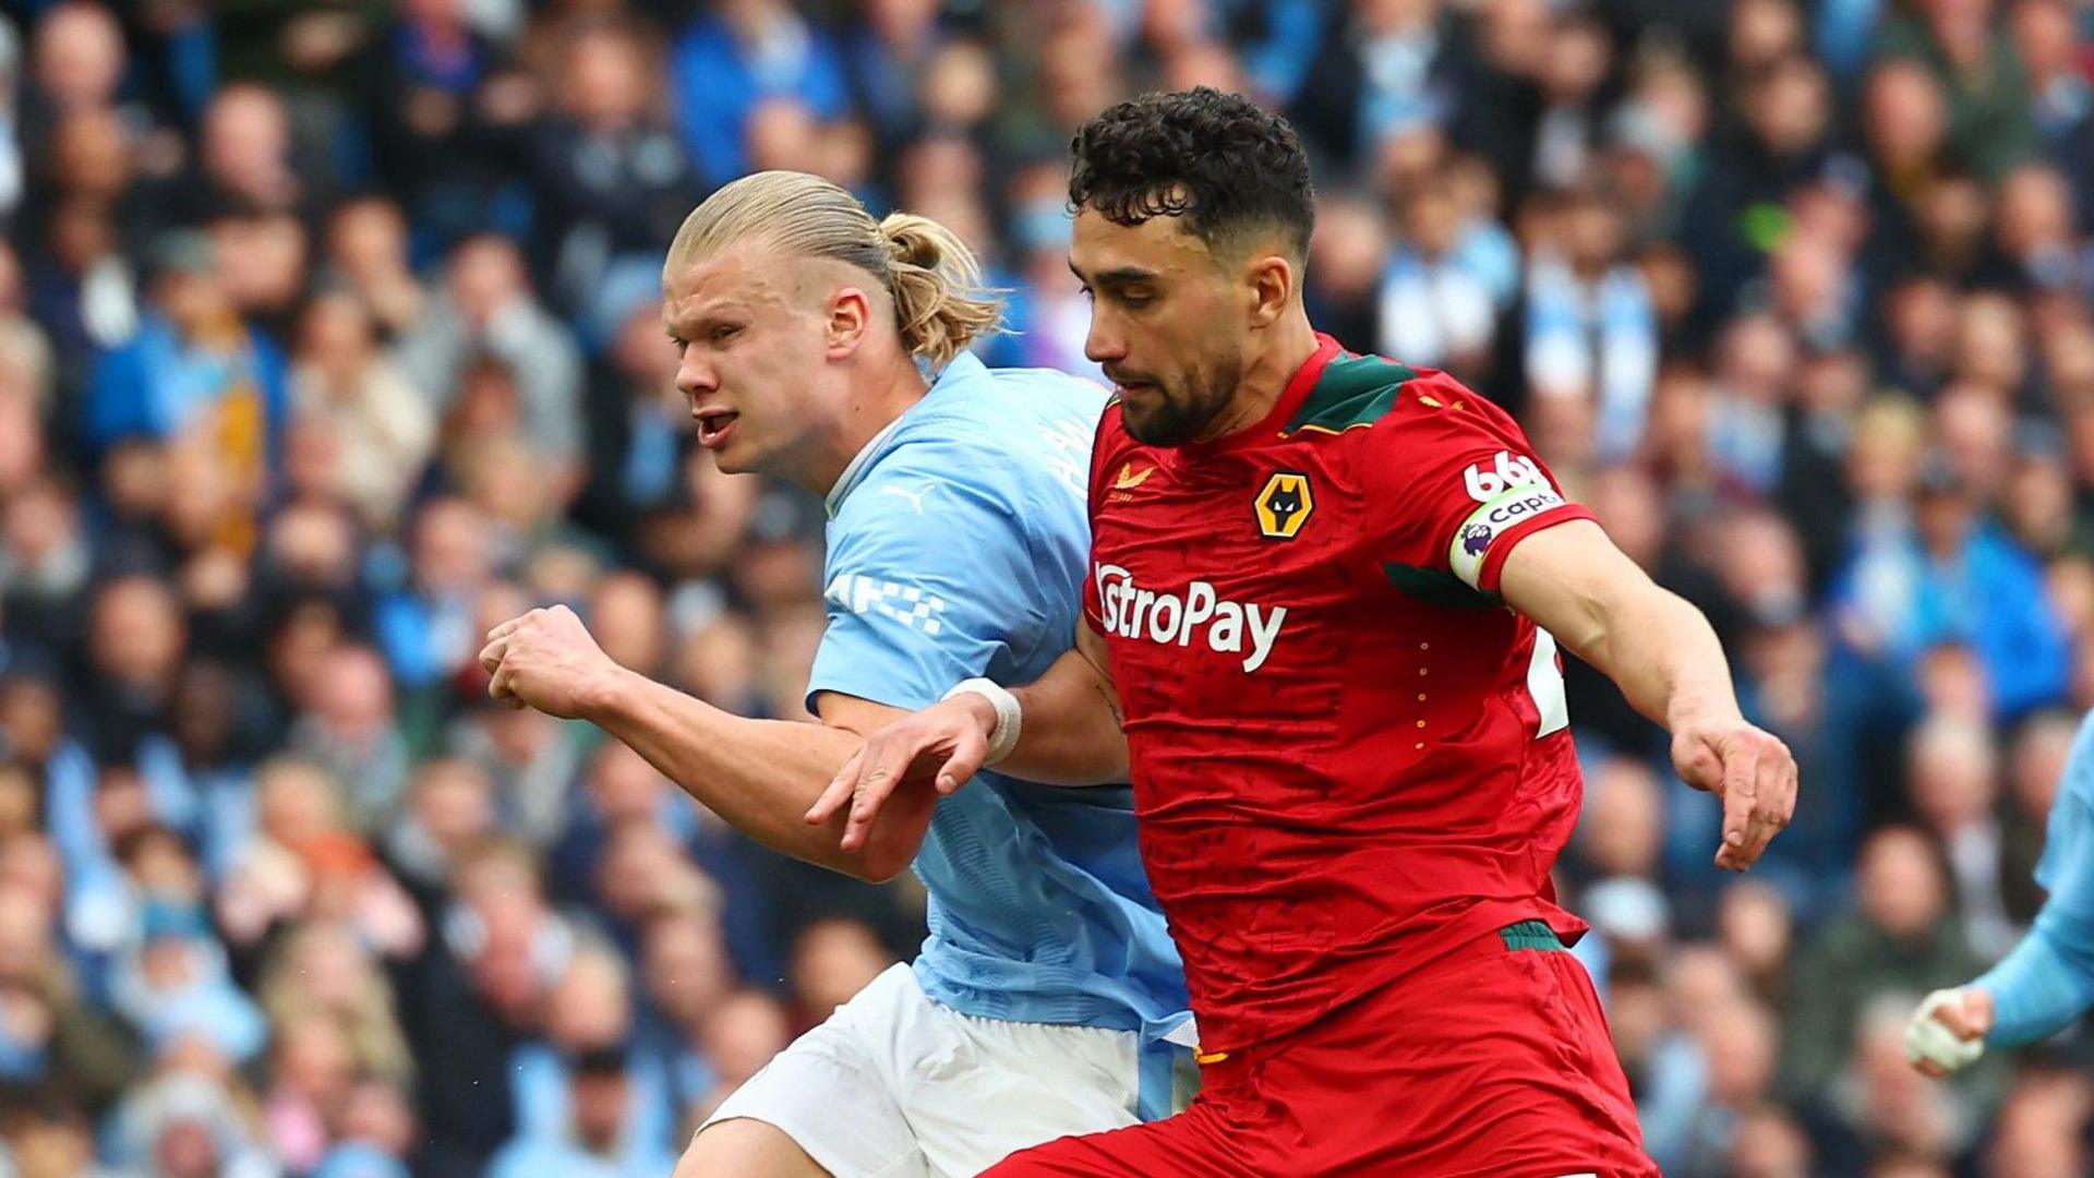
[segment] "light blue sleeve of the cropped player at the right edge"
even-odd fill
[[[1989,1044],[2040,1040],[2094,1006],[2094,713],[2079,721],[2050,803],[2035,882],[2050,893],[2035,926],[1975,983],[1993,1000]]]

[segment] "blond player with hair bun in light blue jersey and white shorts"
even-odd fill
[[[670,245],[662,314],[699,442],[725,472],[827,497],[819,725],[624,671],[565,608],[503,623],[482,652],[496,698],[599,723],[750,836],[871,880],[913,861],[928,885],[915,964],[729,1096],[678,1178],[976,1174],[1179,1103],[1185,983],[1129,788],[926,784],[852,853],[840,817],[806,820],[863,734],[959,679],[1028,681],[1076,635],[1106,394],[965,354],[997,317],[976,272],[936,222],[875,222],[798,172],[727,184]]]

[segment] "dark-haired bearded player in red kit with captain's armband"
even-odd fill
[[[970,681],[875,734],[817,809],[852,807],[848,845],[894,788],[984,761],[1131,773],[1202,1090],[990,1174],[1656,1174],[1550,887],[1581,797],[1556,643],[1721,797],[1725,868],[1788,822],[1792,757],[1740,717],[1700,612],[1506,413],[1311,329],[1313,193],[1282,119],[1152,94],[1074,151],[1070,264],[1118,384],[1089,627],[1037,683]]]

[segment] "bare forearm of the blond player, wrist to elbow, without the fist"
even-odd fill
[[[842,817],[806,824],[806,809],[865,744],[852,732],[737,717],[637,673],[609,681],[586,719],[773,851],[859,878],[888,878],[915,857],[917,832],[879,824],[863,849],[844,851]]]

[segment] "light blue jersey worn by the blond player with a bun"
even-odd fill
[[[1064,373],[959,356],[859,453],[827,503],[829,629],[808,706],[840,692],[913,711],[976,675],[1030,683],[1070,650],[1104,402]],[[915,975],[934,1000],[1148,1040],[1183,1017],[1133,790],[984,771],[938,803],[915,872],[930,891]]]

